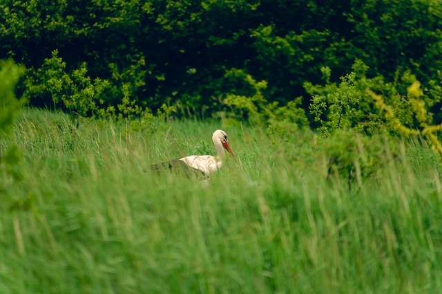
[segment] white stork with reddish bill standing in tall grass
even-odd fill
[[[160,163],[157,165],[151,165],[151,169],[158,171],[160,169],[182,169],[184,171],[193,172],[196,174],[202,174],[203,176],[211,176],[222,167],[222,163],[226,158],[226,149],[233,158],[232,148],[227,140],[227,134],[225,131],[217,129],[212,136],[213,145],[215,145],[218,156],[211,155],[191,155],[168,161],[166,163]]]

